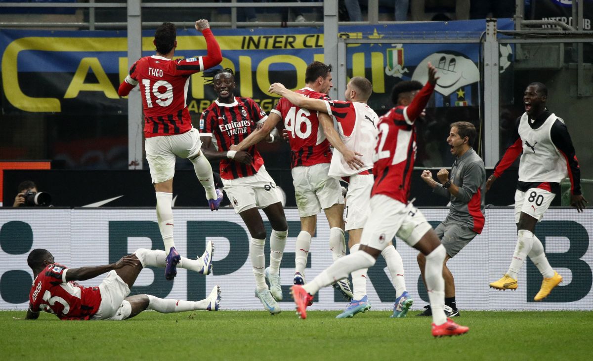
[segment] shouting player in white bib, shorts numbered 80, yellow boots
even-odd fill
[[[535,301],[544,299],[562,282],[562,276],[550,266],[543,244],[533,234],[535,225],[541,221],[556,194],[560,193],[560,181],[567,175],[571,185],[570,205],[581,213],[587,203],[581,194],[581,171],[568,129],[564,120],[546,108],[547,100],[546,85],[533,82],[527,86],[523,95],[525,113],[517,118],[517,140],[506,149],[486,182],[486,189],[490,189],[523,152],[515,191],[517,245],[509,270],[501,279],[490,283],[490,287],[517,289],[517,274],[529,255],[544,277]]]

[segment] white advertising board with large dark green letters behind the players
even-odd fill
[[[433,226],[445,218],[446,209],[423,209]],[[197,257],[206,241],[215,244],[213,275],[178,270],[174,282],[164,278],[163,269],[144,270],[133,294],[150,293],[161,298],[198,300],[213,285],[224,296],[223,309],[262,309],[254,294],[254,278],[248,257],[247,228],[231,209],[210,212],[204,209],[175,209],[175,239],[180,254]],[[294,272],[294,247],[300,230],[297,210],[286,209],[289,235],[280,266],[285,311],[294,308],[289,287]],[[264,218],[265,219],[265,218]],[[269,235],[269,225],[266,225]],[[535,234],[546,248],[550,264],[563,276],[563,283],[544,302],[534,302],[541,275],[531,261],[519,273],[515,292],[489,289],[488,283],[508,269],[516,242],[512,209],[487,209],[482,235],[456,255],[448,265],[455,276],[460,309],[593,309],[592,269],[593,210],[578,215],[574,209],[550,209]],[[320,273],[332,262],[328,249],[329,226],[318,217],[317,232],[311,244],[306,276]],[[416,251],[400,239],[395,241],[406,269],[407,289],[415,299],[414,308],[428,301],[416,264]],[[34,248],[46,248],[56,261],[69,267],[95,266],[117,261],[138,248],[162,248],[154,209],[2,209],[0,210],[0,309],[25,309],[33,282],[27,255]],[[266,242],[266,264],[269,244]],[[372,309],[391,309],[394,289],[385,262],[379,258],[369,269],[367,290]],[[98,285],[102,277],[81,282]],[[345,301],[331,287],[320,290],[311,309],[343,309]]]

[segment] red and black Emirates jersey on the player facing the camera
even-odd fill
[[[200,117],[200,136],[211,136],[212,143],[219,151],[226,152],[231,145],[238,144],[257,128],[258,123],[267,119],[266,112],[251,98],[235,97],[233,103],[214,101]],[[263,158],[255,145],[246,149],[253,156],[251,164],[243,164],[233,159],[222,159],[220,173],[223,179],[248,177],[259,171]]]

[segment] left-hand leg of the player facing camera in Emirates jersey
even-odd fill
[[[253,207],[239,213],[243,222],[251,235],[249,243],[249,257],[251,258],[251,270],[256,279],[256,297],[262,301],[266,311],[271,314],[279,314],[280,306],[273,298],[270,289],[266,285],[264,278],[264,269],[266,268],[266,256],[264,255],[264,246],[266,244],[266,229],[263,225],[262,216],[260,216],[257,207]]]

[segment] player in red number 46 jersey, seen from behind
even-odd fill
[[[330,100],[327,92],[331,83],[331,65],[313,62],[305,71],[307,86],[298,92],[309,98]],[[330,226],[330,250],[333,260],[346,255],[346,240],[343,231],[344,196],[340,182],[328,174],[331,161],[330,143],[338,149],[347,164],[355,168],[364,164],[357,154],[347,149],[334,130],[333,121],[327,114],[311,113],[306,108],[296,107],[281,98],[270,112],[262,129],[238,143],[231,149],[240,151],[260,142],[276,127],[280,120],[288,131],[291,145],[292,179],[295,198],[301,218],[301,232],[295,247],[295,276],[293,283],[305,283],[307,255],[311,247],[311,238],[317,229],[317,213],[323,209]],[[320,126],[321,124],[321,126]],[[333,138],[330,139],[330,137]],[[358,154],[360,155],[360,154]],[[334,287],[352,300],[350,282],[340,280]]]

